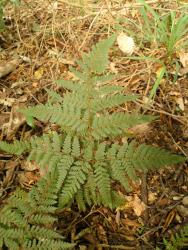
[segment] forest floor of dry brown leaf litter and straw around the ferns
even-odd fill
[[[173,10],[177,18],[188,14],[186,1],[146,2],[161,17]],[[17,109],[45,103],[45,88],[54,89],[56,79],[72,79],[69,66],[83,51],[123,31],[136,48],[128,57],[116,43],[109,71],[117,74],[116,84],[127,93],[140,95],[127,111],[158,116],[131,132],[140,142],[187,156],[188,34],[169,56],[152,12],[146,12],[145,23],[141,6],[139,1],[123,0],[23,0],[16,8],[8,5],[6,27],[0,33],[0,140],[11,142],[48,131],[49,124],[39,121],[30,127]],[[166,74],[161,76],[164,65]],[[38,178],[38,169],[23,157],[0,151],[2,204],[17,186],[29,190]],[[163,238],[170,240],[188,223],[188,166],[151,171],[124,195],[127,202],[116,211],[92,207],[80,213],[73,206],[59,215],[57,227],[67,240],[78,243],[77,249],[165,249]]]

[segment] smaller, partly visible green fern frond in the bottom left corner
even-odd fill
[[[0,249],[53,250],[72,249],[54,231],[57,220],[57,171],[54,168],[29,193],[18,189],[7,201],[0,214]]]

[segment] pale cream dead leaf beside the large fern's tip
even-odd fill
[[[119,49],[127,54],[132,55],[132,53],[135,50],[135,43],[132,37],[127,36],[125,33],[121,32],[117,37],[117,43],[119,46]]]

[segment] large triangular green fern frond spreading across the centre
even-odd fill
[[[108,53],[116,36],[100,41],[92,51],[78,60],[79,70],[70,70],[78,80],[58,80],[63,96],[47,90],[49,101],[21,110],[26,117],[58,124],[62,133],[49,133],[29,142],[0,143],[10,153],[29,152],[47,172],[58,171],[60,207],[73,200],[80,209],[103,204],[114,208],[121,203],[112,188],[119,182],[126,190],[139,171],[175,164],[184,160],[163,149],[121,140],[127,129],[155,119],[141,114],[115,110],[137,99],[125,95],[121,86],[107,84],[114,76],[106,73]]]

